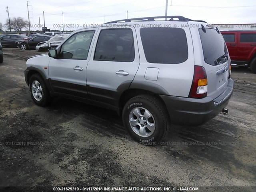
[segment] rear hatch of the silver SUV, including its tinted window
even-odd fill
[[[207,95],[220,96],[228,86],[229,55],[220,31],[216,28],[199,28],[204,54],[204,68],[208,80]]]

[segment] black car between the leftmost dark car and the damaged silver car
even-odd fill
[[[21,50],[27,50],[27,49],[36,49],[36,46],[38,43],[43,41],[48,41],[52,36],[49,35],[39,35],[29,40],[20,40],[16,42],[16,45]]]

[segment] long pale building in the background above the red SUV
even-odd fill
[[[256,30],[256,23],[254,24],[213,24],[221,31],[227,30]]]

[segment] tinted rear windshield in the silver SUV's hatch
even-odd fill
[[[218,65],[228,60],[228,50],[224,39],[216,29],[205,28],[206,32],[199,28],[204,61],[210,65]]]

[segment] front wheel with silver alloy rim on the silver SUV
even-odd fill
[[[29,92],[32,100],[38,106],[46,106],[50,102],[50,93],[39,74],[33,74],[29,79]]]

